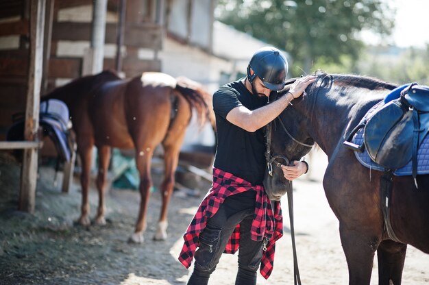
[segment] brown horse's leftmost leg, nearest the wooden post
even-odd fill
[[[93,156],[93,145],[84,144],[77,142],[77,152],[82,163],[82,173],[80,175],[80,184],[82,186],[82,208],[81,215],[78,223],[81,225],[90,225],[89,219],[89,201],[88,201],[88,190],[90,182],[90,171],[91,171],[91,158]]]

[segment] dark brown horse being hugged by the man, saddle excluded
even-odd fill
[[[407,245],[429,253],[429,175],[394,176],[390,221],[400,242],[387,233],[381,207],[381,171],[367,169],[344,147],[348,134],[367,110],[396,86],[369,77],[319,75],[307,94],[271,123],[273,177],[266,175],[267,193],[278,199],[290,186],[276,166],[299,160],[316,142],[328,156],[323,188],[339,219],[349,284],[369,284],[377,251],[379,284],[401,284]],[[285,92],[289,89],[286,86]],[[296,102],[295,102],[296,101]],[[286,134],[289,132],[290,136]],[[291,138],[293,137],[293,139]],[[302,144],[305,145],[302,145]],[[400,156],[400,153],[398,153]],[[286,159],[284,158],[286,157]],[[328,261],[328,260],[327,260]]]

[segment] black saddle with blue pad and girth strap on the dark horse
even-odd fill
[[[354,135],[362,128],[363,143],[352,143]],[[384,101],[371,108],[343,143],[355,153],[366,150],[369,158],[384,168],[380,177],[380,206],[384,229],[396,242],[401,240],[393,231],[390,220],[393,173],[412,160],[411,174],[418,188],[417,152],[428,131],[429,88],[413,83],[396,88]]]

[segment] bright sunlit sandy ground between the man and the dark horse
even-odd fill
[[[302,284],[348,284],[348,271],[339,237],[339,222],[328,205],[323,186],[323,173],[328,160],[316,151],[310,161],[308,176],[297,179],[293,203],[295,242]],[[284,236],[276,244],[274,270],[268,280],[258,276],[258,284],[293,284],[293,253],[287,214],[287,199],[282,201]],[[173,247],[173,255],[179,251]],[[212,285],[234,284],[236,256],[223,255]],[[377,258],[374,260],[371,285],[378,284]],[[429,255],[408,246],[402,284],[429,284]]]

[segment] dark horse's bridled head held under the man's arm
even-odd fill
[[[286,85],[286,88],[278,93],[278,97],[285,94],[289,87]],[[306,99],[300,98],[294,100],[293,105],[302,104],[305,101]],[[292,187],[292,182],[284,178],[280,164],[288,165],[293,160],[301,159],[314,144],[314,140],[306,131],[307,121],[308,118],[299,114],[293,106],[288,106],[277,119],[266,127],[267,169],[265,170],[264,186],[265,192],[271,200],[279,201]]]

